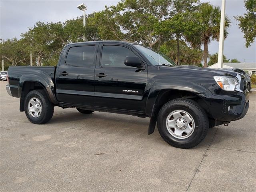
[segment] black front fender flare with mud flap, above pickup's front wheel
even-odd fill
[[[212,94],[210,90],[206,87],[202,86],[201,84],[195,82],[188,82],[184,80],[177,80],[177,81],[168,81],[168,80],[159,80],[149,84],[149,93],[148,99],[146,102],[146,114],[151,115],[153,106],[157,101],[160,91],[162,90],[172,90],[172,91],[186,91],[191,92],[194,94],[204,93],[204,94]]]

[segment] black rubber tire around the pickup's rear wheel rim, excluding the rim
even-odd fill
[[[33,117],[30,114],[29,109],[28,109],[28,102],[32,98],[37,98],[40,101],[41,106],[42,106],[42,112],[38,117]],[[44,124],[44,123],[50,121],[52,118],[53,112],[54,112],[54,106],[48,99],[44,90],[30,91],[26,95],[25,102],[24,102],[24,109],[25,109],[25,114],[26,114],[28,120],[30,120],[30,122],[32,122],[34,124]]]

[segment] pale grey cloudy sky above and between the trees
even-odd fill
[[[64,22],[82,16],[77,6],[85,3],[86,14],[100,11],[105,5],[116,5],[119,0],[0,0],[0,38],[20,38],[20,34],[41,22]],[[221,0],[201,0],[214,6],[221,6]],[[244,47],[245,39],[238,28],[234,16],[246,12],[243,0],[226,0],[226,15],[231,19],[229,35],[224,41],[224,55],[228,59],[236,58],[240,62],[256,62],[256,42],[249,48]],[[202,47],[203,49],[203,47]],[[209,53],[218,52],[218,42],[209,44]]]

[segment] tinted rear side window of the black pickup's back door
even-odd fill
[[[68,50],[66,64],[79,67],[95,66],[95,46],[71,47]]]

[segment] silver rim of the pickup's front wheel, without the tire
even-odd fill
[[[170,112],[167,116],[166,128],[175,138],[186,139],[193,134],[195,130],[195,122],[188,112],[175,110]]]

